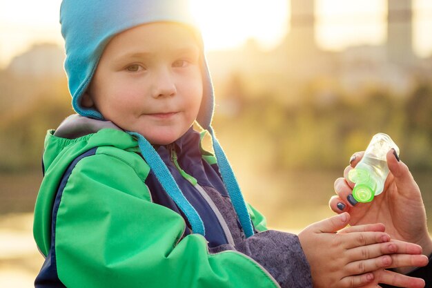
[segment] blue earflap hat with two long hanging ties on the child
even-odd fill
[[[81,105],[81,98],[86,92],[95,73],[99,59],[106,45],[115,35],[132,27],[145,23],[169,21],[182,23],[197,29],[190,15],[188,0],[63,0],[60,8],[61,34],[65,39],[65,70],[68,74],[68,86],[72,95],[72,106],[80,115],[95,119],[104,119],[99,111]],[[203,97],[197,116],[197,122],[212,135],[213,147],[231,201],[239,216],[246,236],[253,235],[251,219],[246,210],[242,193],[222,147],[217,142],[210,126],[213,117],[213,84],[210,79],[202,38],[202,79]],[[197,211],[184,198],[177,183],[169,173],[151,144],[138,133],[137,137],[144,159],[161,182],[162,186],[177,206],[185,213],[193,231],[205,234],[204,224]]]

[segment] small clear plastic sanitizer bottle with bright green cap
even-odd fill
[[[386,154],[394,148],[399,155],[399,147],[389,135],[377,133],[364,152],[355,169],[348,173],[348,180],[355,183],[353,197],[357,202],[371,202],[375,195],[382,193],[384,182],[389,174]]]

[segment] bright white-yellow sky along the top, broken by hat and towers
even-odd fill
[[[273,48],[289,30],[288,0],[190,0],[207,50],[230,49],[255,38]],[[391,1],[391,0],[390,0]],[[63,46],[60,0],[0,0],[0,68],[35,43]],[[383,44],[386,0],[315,0],[317,44],[326,50]],[[413,0],[414,50],[432,53],[432,1]]]

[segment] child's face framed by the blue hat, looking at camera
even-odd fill
[[[200,55],[193,32],[179,24],[121,32],[106,46],[82,104],[152,144],[172,143],[197,118]]]

